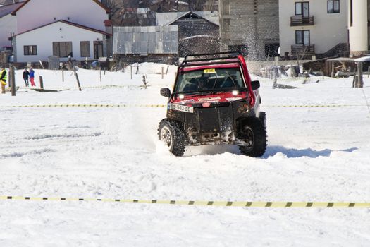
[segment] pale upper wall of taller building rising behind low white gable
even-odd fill
[[[32,0],[16,13],[18,33],[68,20],[97,30],[105,30],[104,20],[108,14],[92,0]]]

